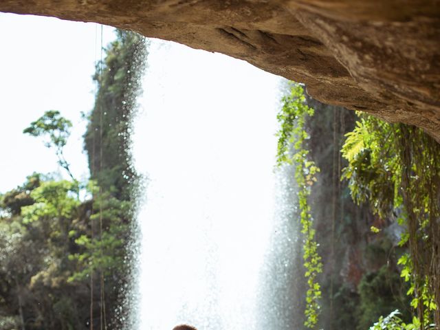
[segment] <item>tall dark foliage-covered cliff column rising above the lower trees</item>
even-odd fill
[[[98,92],[84,135],[91,178],[104,190],[113,188],[118,199],[131,199],[137,175],[131,164],[131,119],[142,91],[146,65],[146,39],[135,32],[118,30],[96,66]],[[114,189],[115,188],[115,189]]]

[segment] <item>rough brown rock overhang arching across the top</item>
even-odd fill
[[[1,0],[241,58],[440,140],[440,0]]]

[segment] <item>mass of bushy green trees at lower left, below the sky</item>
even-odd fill
[[[80,329],[83,320],[78,317],[89,315],[83,302],[90,299],[90,276],[102,272],[107,304],[115,305],[118,276],[126,269],[131,203],[109,192],[81,202],[76,181],[39,179],[36,184],[36,177],[41,178],[34,174],[14,190],[15,195],[27,194],[30,202],[0,218],[0,297],[10,299],[0,300],[0,315],[7,304],[17,311],[14,293],[21,292],[25,314],[39,320],[26,329]],[[90,192],[99,190],[93,183],[88,186]],[[0,212],[9,208],[3,201]]]

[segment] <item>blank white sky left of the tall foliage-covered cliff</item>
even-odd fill
[[[57,172],[53,150],[23,129],[47,110],[58,110],[74,129],[65,156],[78,179],[87,178],[83,153],[86,121],[94,106],[100,25],[0,13],[0,192],[23,184],[32,172]],[[104,27],[103,44],[114,38]]]

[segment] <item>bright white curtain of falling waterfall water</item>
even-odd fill
[[[275,207],[281,78],[175,43],[149,53],[133,135],[148,177],[138,329],[263,329],[288,294],[268,281],[291,279],[276,254],[294,253]]]

